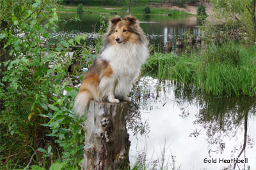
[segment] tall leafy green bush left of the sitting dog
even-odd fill
[[[66,54],[85,35],[55,36],[53,1],[12,2],[0,4],[0,23],[8,23],[0,30],[0,169],[13,162],[41,165],[41,160],[45,169],[55,160],[74,169],[83,159],[84,134],[83,120],[72,113],[77,88]]]

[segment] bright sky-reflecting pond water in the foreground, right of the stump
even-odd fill
[[[144,77],[134,89],[133,100],[143,122],[135,129],[146,134],[134,136],[134,129],[129,130],[132,165],[145,158],[146,169],[160,169],[159,164],[166,169],[233,169],[230,159],[240,154],[239,159],[248,163],[237,164],[236,169],[256,167],[255,98],[214,97],[193,87]],[[217,163],[204,163],[206,159]]]

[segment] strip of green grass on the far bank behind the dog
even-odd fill
[[[109,10],[111,8],[111,10]],[[143,9],[145,6],[131,6],[130,13],[131,14],[143,14]],[[77,6],[59,6],[57,8],[59,12],[77,12]],[[84,6],[84,13],[117,13],[120,15],[121,13],[125,13],[127,11],[127,6]],[[172,16],[180,16],[180,15],[190,15],[184,11],[179,10],[169,10],[168,8],[150,8],[151,13],[148,15],[168,15],[172,13]]]

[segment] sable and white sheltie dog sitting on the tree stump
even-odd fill
[[[131,101],[128,95],[132,83],[148,57],[148,41],[135,17],[111,18],[102,40],[102,51],[84,74],[74,101],[74,112],[80,117],[88,110],[90,100]]]

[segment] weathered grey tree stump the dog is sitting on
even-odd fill
[[[128,103],[90,101],[86,113],[83,169],[129,169]]]

